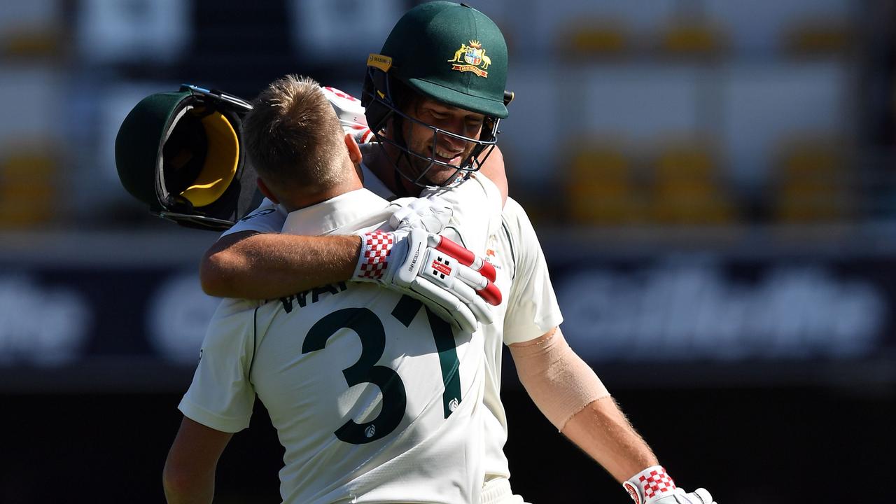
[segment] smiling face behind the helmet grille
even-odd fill
[[[402,135],[410,152],[418,154],[408,157],[409,174],[416,178],[426,172],[421,181],[444,185],[477,145],[459,136],[478,140],[485,116],[425,97],[413,100],[407,115],[415,120],[402,121]]]

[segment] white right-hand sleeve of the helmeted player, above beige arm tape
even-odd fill
[[[511,228],[516,261],[504,315],[504,344],[522,343],[559,326],[563,315],[535,229],[520,204],[509,198],[504,206],[504,225]]]

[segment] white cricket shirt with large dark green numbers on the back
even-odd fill
[[[468,247],[484,249],[500,196],[487,180],[461,187],[452,191],[454,204],[477,208],[477,219],[455,212],[452,225]],[[391,213],[386,204],[366,189],[352,191],[290,213],[283,230],[380,228]],[[452,334],[418,301],[366,283],[326,285],[253,308],[222,302],[180,409],[213,429],[237,431],[248,426],[257,394],[286,448],[285,502],[478,500],[480,334]]]

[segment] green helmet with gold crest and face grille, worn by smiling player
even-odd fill
[[[409,173],[401,168],[401,160],[392,160],[404,178],[427,186],[429,169],[457,169],[447,186],[478,170],[494,147],[498,123],[507,117],[506,104],[512,97],[512,93],[504,91],[506,83],[507,45],[495,22],[466,4],[429,2],[401,16],[381,54],[367,58],[362,103],[367,124],[380,143],[398,147],[403,156],[429,161],[422,173]],[[404,114],[400,109],[401,94],[409,91],[485,116],[479,138],[446,132]],[[429,127],[434,136],[452,136],[474,143],[475,148],[460,167],[448,165],[435,159],[435,142],[434,152],[412,152],[401,137],[381,135],[390,118],[416,122]]]

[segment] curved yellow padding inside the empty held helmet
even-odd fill
[[[180,194],[194,206],[212,204],[220,198],[237,174],[239,163],[237,132],[226,117],[212,112],[202,117],[202,127],[208,140],[205,162],[194,184]]]

